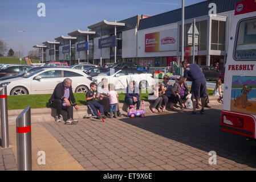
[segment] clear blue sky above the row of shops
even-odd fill
[[[204,0],[185,0],[185,6]],[[46,16],[38,17],[38,3],[46,5]],[[181,8],[181,0],[1,0],[0,1],[0,40],[9,48],[19,51],[21,33],[24,55],[42,45],[46,40],[54,41],[68,32],[87,30],[87,26],[103,19],[117,21],[135,15],[156,15]]]

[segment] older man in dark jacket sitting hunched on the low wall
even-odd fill
[[[76,124],[77,120],[73,119],[73,106],[75,109],[79,109],[79,106],[76,104],[74,94],[72,92],[72,80],[70,78],[65,78],[63,82],[56,85],[54,93],[52,94],[49,102],[52,107],[57,109],[57,115],[55,117],[56,122],[60,122],[60,114],[62,110],[67,111],[67,121],[66,124]]]

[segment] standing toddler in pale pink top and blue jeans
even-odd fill
[[[113,110],[114,110],[114,118],[117,118],[117,103],[118,103],[118,94],[115,91],[115,85],[113,84],[108,84],[108,97],[109,97],[109,104],[110,104],[110,114],[109,118],[113,118]]]

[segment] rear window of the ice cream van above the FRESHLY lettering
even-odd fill
[[[234,49],[235,60],[256,60],[256,18],[238,23]]]

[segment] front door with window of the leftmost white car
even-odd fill
[[[35,77],[40,76],[41,78],[36,80]],[[50,70],[43,73],[39,73],[32,78],[31,81],[31,93],[32,94],[46,94],[53,93],[55,86],[62,82],[61,70]]]

